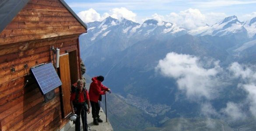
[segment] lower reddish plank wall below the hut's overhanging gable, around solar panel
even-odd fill
[[[52,46],[60,48],[60,54],[66,53],[66,50],[71,48],[77,50],[77,38],[78,36],[70,35],[66,38],[34,41],[35,43],[29,41],[12,46],[0,46],[0,52],[12,50],[5,55],[0,55],[3,59],[8,55],[23,54],[7,57],[5,60],[1,59],[0,62],[0,125],[2,131],[45,131],[60,128],[66,124],[67,120],[61,118],[59,89],[55,90],[54,100],[44,103],[44,97],[35,80],[26,75],[30,67],[53,61],[53,54],[50,51]],[[21,47],[27,48],[21,49]],[[32,52],[31,50],[33,53],[28,53]],[[27,69],[25,69],[26,64]],[[11,72],[12,67],[15,68],[15,72]],[[26,80],[29,82],[25,86]]]

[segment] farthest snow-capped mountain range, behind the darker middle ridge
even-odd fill
[[[101,22],[88,23],[88,33],[80,37],[81,52],[83,52],[81,55],[82,58],[88,59],[95,65],[97,62],[94,62],[94,59],[104,61],[107,56],[121,52],[137,42],[153,39],[168,41],[184,34],[204,38],[224,38],[227,40],[226,42],[231,41],[228,42],[231,45],[220,45],[222,47],[226,46],[226,49],[256,38],[256,17],[245,22],[238,21],[236,16],[226,17],[223,21],[214,25],[206,25],[195,30],[178,27],[165,21],[160,23],[153,19],[138,24],[125,18],[117,20],[107,17]],[[91,56],[94,58],[91,58]]]

